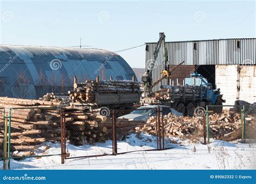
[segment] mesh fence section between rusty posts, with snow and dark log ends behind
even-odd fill
[[[97,116],[96,111],[68,109],[62,110],[60,115],[62,164],[65,159],[112,155],[112,130],[107,129],[109,125],[112,127],[111,118]],[[97,146],[104,146],[103,143],[107,145],[104,153],[97,150]]]

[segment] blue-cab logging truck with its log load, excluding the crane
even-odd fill
[[[151,93],[141,100],[145,104],[162,104],[169,105],[184,115],[193,116],[196,107],[206,107],[206,105],[220,105],[218,107],[209,108],[214,112],[220,113],[223,110],[221,105],[223,95],[220,89],[214,90],[212,84],[208,83],[205,77],[194,72],[190,78],[184,79],[183,85],[160,86],[161,90]]]

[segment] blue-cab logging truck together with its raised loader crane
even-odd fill
[[[152,83],[152,71],[157,60],[160,47],[163,47],[164,52],[164,70],[161,72],[161,77]],[[185,61],[180,62],[182,65]],[[164,32],[159,33],[159,40],[156,48],[153,52],[153,59],[150,63],[150,67],[142,76],[142,81],[144,82],[145,88],[145,98],[143,98],[140,103],[145,104],[162,104],[169,105],[175,108],[184,115],[192,116],[194,114],[194,109],[196,107],[206,107],[206,105],[220,105],[218,107],[211,108],[214,112],[221,112],[223,107],[222,103],[223,95],[220,94],[220,89],[213,90],[212,84],[208,83],[204,76],[194,72],[189,78],[185,78],[183,86],[161,86],[160,91],[152,93],[152,88],[155,87],[162,80],[167,79],[170,81],[171,73],[179,65],[169,69],[169,61],[167,55],[167,49],[165,46],[165,34]]]

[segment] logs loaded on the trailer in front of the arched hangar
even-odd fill
[[[95,93],[99,94],[115,94],[115,93],[138,93],[140,87],[139,82],[130,80],[86,80],[83,83],[75,83],[74,90],[69,91],[69,97],[72,102],[95,103]]]

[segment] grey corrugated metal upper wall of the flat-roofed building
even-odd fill
[[[146,69],[149,69],[157,43],[146,43]],[[178,65],[256,65],[256,38],[174,41],[166,43],[169,64]],[[164,55],[160,49],[156,65],[153,68],[153,82],[160,78],[164,69]],[[151,67],[152,68],[152,67]],[[167,80],[161,82],[166,84]],[[158,90],[160,84],[153,88]]]

